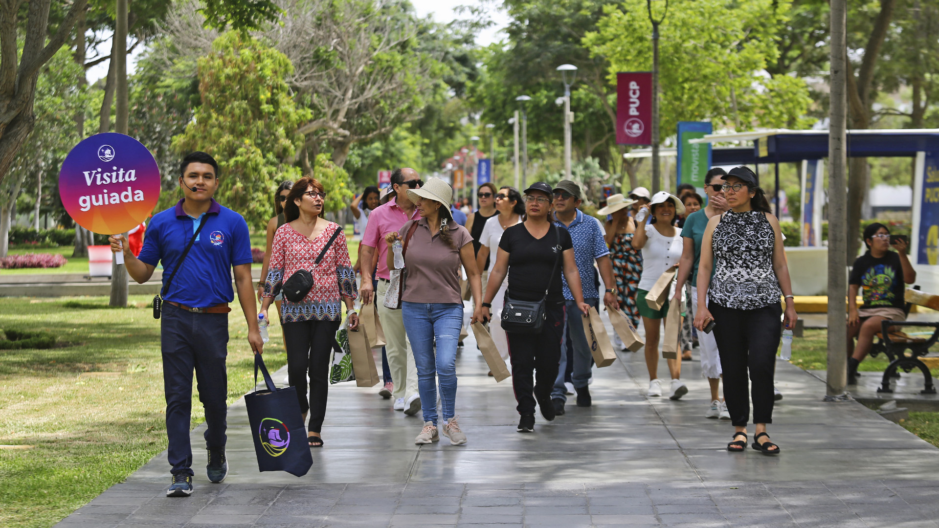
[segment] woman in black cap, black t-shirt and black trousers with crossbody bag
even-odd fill
[[[551,388],[558,377],[564,328],[562,271],[577,306],[584,314],[590,309],[590,305],[583,300],[571,234],[563,227],[554,228],[548,221],[553,195],[551,187],[544,181],[535,182],[525,190],[525,222],[513,225],[502,233],[496,263],[489,272],[484,302],[476,314],[477,320],[489,318],[492,299],[496,296],[506,273],[509,275],[506,297],[511,299],[541,301],[547,285],[546,321],[541,333],[506,332],[512,361],[512,386],[518,402],[516,410],[521,414],[518,432],[534,431],[536,400],[541,408],[541,415],[548,422],[554,419]],[[558,263],[558,271],[552,275],[559,250],[561,262]],[[571,316],[577,317],[577,314]],[[534,374],[534,371],[537,371],[537,374]]]

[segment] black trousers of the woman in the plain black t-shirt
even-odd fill
[[[551,398],[551,388],[558,378],[561,339],[564,331],[564,305],[546,306],[545,326],[539,334],[506,332],[512,361],[512,388],[516,393],[519,414],[534,414],[535,398]]]

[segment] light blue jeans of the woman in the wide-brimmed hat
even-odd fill
[[[401,315],[405,319],[405,332],[414,351],[423,421],[432,422],[436,426],[438,380],[443,419],[454,417],[456,343],[460,339],[460,329],[463,328],[463,304],[402,301]]]

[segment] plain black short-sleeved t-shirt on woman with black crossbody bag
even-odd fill
[[[564,227],[558,227],[555,234],[552,226],[540,239],[532,237],[525,224],[513,225],[502,233],[499,247],[509,253],[509,297],[518,301],[541,301],[545,295],[545,287],[550,285],[547,303],[564,302],[561,283],[563,256],[558,262],[557,272],[550,276],[554,261],[558,257],[559,245],[562,252],[574,248],[571,234]]]

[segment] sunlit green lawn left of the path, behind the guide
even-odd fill
[[[0,329],[57,338],[54,349],[0,351],[0,444],[33,446],[0,449],[0,526],[52,526],[166,448],[160,321],[149,302],[0,300]],[[232,308],[229,404],[254,385],[247,325],[237,300]],[[271,370],[286,362],[277,326],[274,318],[265,353]],[[192,392],[194,427],[204,416]]]

